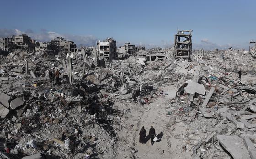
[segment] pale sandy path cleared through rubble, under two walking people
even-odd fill
[[[129,128],[123,128],[118,134],[120,136],[117,159],[189,159],[190,152],[182,152],[181,143],[183,143],[182,133],[186,132],[183,123],[176,123],[174,127],[168,127],[172,115],[168,113],[167,108],[170,101],[175,97],[176,87],[162,87],[168,96],[157,98],[155,102],[144,106],[131,106],[131,116],[126,120]],[[155,128],[156,134],[163,133],[159,142],[155,142],[152,146],[150,139],[146,144],[139,143],[139,131],[142,126],[145,127],[147,135],[150,126]],[[126,141],[122,144],[122,141]],[[135,153],[134,153],[135,152]]]

